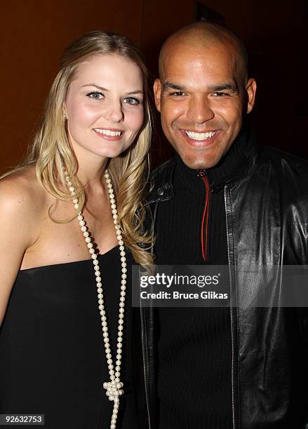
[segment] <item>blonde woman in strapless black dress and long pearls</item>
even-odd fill
[[[133,259],[151,263],[138,245],[150,243],[139,232],[149,142],[138,50],[116,34],[81,36],[29,156],[0,181],[2,414],[138,427],[126,291]]]

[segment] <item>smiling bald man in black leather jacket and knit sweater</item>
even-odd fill
[[[156,107],[176,155],[149,198],[156,264],[229,265],[230,306],[141,309],[149,425],[305,428],[307,309],[243,304],[263,287],[248,268],[308,264],[308,163],[255,142],[256,83],[227,29],[180,29],[159,74]],[[280,297],[279,278],[270,287]]]

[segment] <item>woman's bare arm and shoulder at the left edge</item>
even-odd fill
[[[0,325],[22,257],[36,241],[38,207],[27,177],[0,180]]]

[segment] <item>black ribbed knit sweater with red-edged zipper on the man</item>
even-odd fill
[[[157,212],[156,264],[228,264],[223,179],[246,161],[246,138],[201,175],[176,156],[175,198]],[[159,308],[159,322],[159,429],[232,428],[229,308]]]

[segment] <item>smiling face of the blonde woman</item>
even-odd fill
[[[77,158],[114,158],[130,147],[142,127],[143,96],[142,73],[131,60],[97,55],[81,63],[65,100]]]

